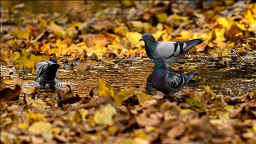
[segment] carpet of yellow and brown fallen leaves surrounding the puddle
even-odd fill
[[[52,56],[60,71],[74,67],[82,78],[93,67],[143,59],[139,39],[145,32],[158,41],[205,39],[188,53],[197,55],[195,61],[207,55],[231,71],[255,70],[256,5],[251,1],[97,5],[87,1],[79,9],[37,15],[22,15],[23,4],[1,7],[1,143],[256,143],[256,89],[222,97],[205,85],[177,99],[114,93],[97,79],[85,97],[68,84],[52,92],[40,86],[24,92],[22,80],[34,79],[36,64]],[[240,66],[231,67],[234,63]]]

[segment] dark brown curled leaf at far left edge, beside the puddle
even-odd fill
[[[0,91],[0,99],[5,99],[7,101],[17,101],[19,100],[19,95],[21,94],[21,86],[15,85],[14,89],[5,88]]]

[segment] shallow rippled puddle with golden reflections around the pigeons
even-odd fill
[[[251,73],[251,71],[256,68],[249,67],[251,60],[243,58],[240,60],[241,63],[232,62],[231,59],[228,60],[230,62],[227,64],[227,62],[223,62],[223,59],[209,59],[209,55],[200,57],[195,55],[193,57],[186,56],[179,63],[173,64],[171,71],[177,73],[197,71],[199,73],[193,78],[193,81],[175,95],[177,96],[188,91],[203,91],[207,85],[217,95],[223,96],[239,97],[249,90],[255,91],[256,73]],[[129,89],[131,91],[148,93],[149,95],[163,95],[161,92],[155,91],[149,81],[154,67],[151,60],[129,58],[117,59],[117,61],[119,61],[119,67],[117,68],[114,68],[114,65],[99,61],[91,65],[89,71],[77,72],[75,67],[59,69],[62,79],[59,80],[57,87],[68,89],[66,85],[69,84],[72,87],[73,93],[78,93],[80,96],[89,96],[89,91],[96,87],[97,81],[105,79],[115,94],[123,89]],[[15,68],[7,69],[5,75],[10,71],[15,71]],[[18,75],[20,74],[13,72],[13,75],[10,76],[13,77],[11,81],[13,83],[21,83],[23,93],[31,93],[33,87],[38,85],[35,81],[35,75],[29,74],[25,79],[18,77]],[[96,96],[96,89],[94,89],[94,92]]]

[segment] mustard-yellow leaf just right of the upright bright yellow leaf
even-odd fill
[[[130,97],[133,97],[133,95],[134,95],[133,91],[129,91],[129,90],[119,91],[117,95],[115,95],[115,104],[122,105],[123,101],[126,101]]]

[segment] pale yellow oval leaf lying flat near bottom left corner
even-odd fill
[[[51,123],[46,121],[39,121],[33,123],[27,131],[36,134],[51,133]]]

